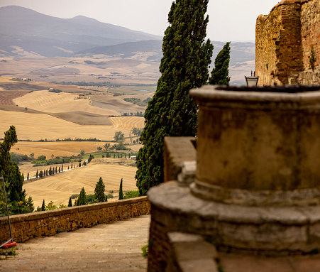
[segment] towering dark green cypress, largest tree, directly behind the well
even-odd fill
[[[172,3],[163,38],[161,77],[157,91],[145,111],[143,148],[137,156],[137,187],[140,195],[163,182],[163,139],[165,136],[194,136],[197,104],[189,89],[206,84],[213,45],[206,37],[205,17],[209,0],[176,0]]]

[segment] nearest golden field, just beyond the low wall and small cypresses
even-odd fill
[[[26,190],[27,197],[33,198],[35,208],[40,207],[43,200],[46,205],[50,201],[57,206],[67,205],[69,197],[79,194],[82,187],[87,195],[92,195],[100,177],[104,181],[107,193],[114,190],[116,191],[114,195],[117,195],[121,178],[123,178],[123,191],[137,190],[134,175],[136,175],[136,167],[111,163],[95,164],[93,160],[84,167],[27,183],[23,185],[23,189]],[[110,200],[117,200],[117,198]]]

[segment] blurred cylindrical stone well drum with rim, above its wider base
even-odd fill
[[[194,195],[320,204],[320,87],[205,86],[190,94],[199,104]]]

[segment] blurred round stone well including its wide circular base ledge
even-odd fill
[[[170,232],[209,238],[219,251],[320,252],[320,87],[204,86],[190,94],[199,104],[195,178],[184,180],[182,169],[148,191],[150,267],[158,256],[170,259]],[[182,141],[172,140],[170,156],[168,143]]]

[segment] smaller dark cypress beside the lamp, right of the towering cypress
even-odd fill
[[[214,60],[214,69],[211,71],[209,84],[211,85],[229,85],[229,62],[230,62],[230,43],[226,43],[224,48]]]

